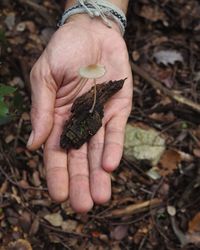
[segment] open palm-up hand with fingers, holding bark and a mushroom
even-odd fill
[[[60,148],[60,135],[70,116],[70,100],[80,77],[78,70],[102,64],[107,73],[97,83],[125,77],[124,87],[105,105],[103,126],[79,150]],[[88,81],[78,95],[92,86]],[[132,74],[123,38],[115,23],[107,28],[101,20],[76,15],[53,35],[31,72],[32,133],[27,147],[44,144],[44,164],[51,197],[68,198],[77,212],[110,199],[109,172],[119,164],[124,129],[132,104]]]

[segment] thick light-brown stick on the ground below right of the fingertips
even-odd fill
[[[121,217],[121,216],[127,216],[127,215],[133,215],[133,214],[137,214],[137,213],[141,213],[141,212],[146,212],[148,211],[150,208],[156,208],[158,206],[160,206],[162,204],[162,200],[160,199],[152,199],[149,201],[144,201],[138,204],[133,204],[133,205],[129,205],[125,208],[120,208],[120,209],[116,209],[113,210],[108,217],[112,216],[112,217]]]

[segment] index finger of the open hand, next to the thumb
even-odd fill
[[[67,153],[59,145],[62,123],[54,124],[44,147],[44,163],[50,196],[57,202],[68,197]]]

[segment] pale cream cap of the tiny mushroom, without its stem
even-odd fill
[[[96,79],[104,76],[106,73],[106,68],[104,65],[100,64],[90,64],[86,67],[81,67],[79,69],[79,75],[83,78]]]

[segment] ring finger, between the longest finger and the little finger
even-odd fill
[[[92,198],[97,204],[107,202],[111,196],[110,175],[102,168],[104,133],[104,128],[101,127],[88,144],[90,190]]]

